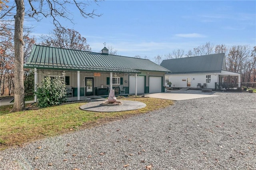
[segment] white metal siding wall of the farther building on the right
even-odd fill
[[[211,83],[206,83],[206,75],[211,75]],[[191,78],[191,87],[196,88],[198,83],[203,85],[206,83],[206,88],[214,89],[215,82],[218,82],[218,74],[182,74],[182,75],[166,75],[169,81],[172,82],[172,87],[187,87],[187,78]],[[186,79],[186,81],[182,81]],[[165,86],[168,86],[165,83]]]

